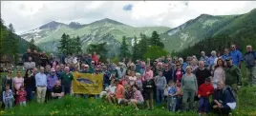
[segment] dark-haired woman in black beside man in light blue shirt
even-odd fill
[[[25,90],[27,91],[27,100],[32,101],[33,94],[35,91],[35,78],[32,74],[31,69],[27,69],[27,71],[25,73],[24,85],[25,85]]]

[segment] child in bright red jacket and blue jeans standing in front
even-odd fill
[[[198,97],[200,98],[199,103],[199,115],[205,115],[209,110],[209,96],[213,94],[214,88],[211,84],[210,78],[205,79],[205,83],[199,87]]]

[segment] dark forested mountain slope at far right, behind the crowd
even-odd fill
[[[256,9],[251,10],[248,13],[239,15],[228,25],[225,25],[221,29],[212,34],[212,36],[196,43],[194,46],[184,48],[177,52],[179,56],[187,55],[200,55],[200,52],[204,50],[210,55],[211,50],[216,50],[222,53],[224,48],[229,48],[230,44],[235,44],[237,47],[245,53],[245,47],[251,45],[256,47]]]

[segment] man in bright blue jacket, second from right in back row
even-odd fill
[[[241,62],[243,61],[243,56],[241,51],[239,51],[234,44],[231,45],[230,56],[232,57],[233,64],[241,68]]]

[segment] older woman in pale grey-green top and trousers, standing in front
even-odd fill
[[[192,68],[188,66],[186,73],[181,78],[182,104],[183,109],[192,109],[195,95],[198,91],[197,77],[192,73]],[[189,106],[187,101],[189,100]]]

